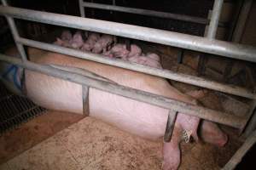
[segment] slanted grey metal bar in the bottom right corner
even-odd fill
[[[256,143],[256,131],[254,131],[250,137],[246,139],[244,144],[241,145],[236,151],[236,154],[231,157],[230,161],[221,169],[221,170],[233,170],[240,163],[243,156],[246,155],[247,151],[253,147],[253,144]]]

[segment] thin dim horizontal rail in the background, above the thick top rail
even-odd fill
[[[143,9],[143,8],[128,8],[128,7],[121,7],[121,6],[115,6],[115,5],[108,5],[108,4],[102,4],[102,3],[80,3],[80,8],[87,7],[87,8],[99,8],[99,9],[105,9],[105,10],[112,10],[112,11],[118,11],[123,13],[130,13],[130,14],[142,14],[146,16],[154,16],[159,18],[166,18],[166,19],[172,19],[172,20],[183,20],[187,22],[193,22],[197,24],[202,25],[208,25],[210,23],[210,20],[204,19],[201,17],[195,17],[195,16],[189,16],[184,14],[172,14],[172,13],[165,13],[165,12],[159,12],[149,9]],[[219,23],[219,26],[225,26],[223,22]]]

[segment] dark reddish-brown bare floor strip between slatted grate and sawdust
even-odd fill
[[[81,120],[83,116],[47,111],[29,122],[0,136],[0,164],[48,139],[55,133]]]

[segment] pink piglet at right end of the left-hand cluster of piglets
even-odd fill
[[[92,52],[95,54],[105,53],[110,49],[111,44],[114,42],[113,36],[104,34],[95,44]]]

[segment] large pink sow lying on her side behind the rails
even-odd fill
[[[197,105],[196,99],[180,93],[160,77],[102,65],[88,60],[74,59],[67,55],[40,53],[40,51],[33,53],[32,60],[40,64],[57,64],[86,69],[120,85]],[[38,105],[60,111],[83,112],[82,87],[79,84],[26,71],[26,88],[28,89],[28,97]],[[109,122],[143,138],[160,139],[165,133],[168,114],[166,109],[109,94],[95,88],[90,88],[89,105],[90,116],[95,116],[104,122]],[[183,140],[183,132],[185,130],[189,136],[191,135],[195,140],[198,140],[199,122],[198,117],[189,116],[185,113],[177,114],[172,140],[170,143],[165,143],[163,148],[164,169],[177,169],[181,156],[179,144]],[[227,136],[215,123],[204,121],[201,129],[201,139],[219,146],[226,143]],[[206,130],[204,131],[204,129]],[[212,136],[212,133],[214,133],[214,136]]]

